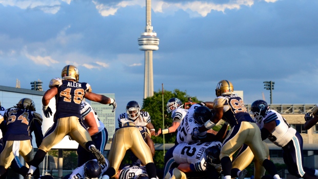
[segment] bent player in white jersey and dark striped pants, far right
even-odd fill
[[[251,115],[261,129],[262,140],[268,138],[282,147],[284,163],[290,174],[305,179],[318,178],[318,170],[303,166],[303,137],[280,113],[269,109],[265,101],[256,100],[251,105]]]

